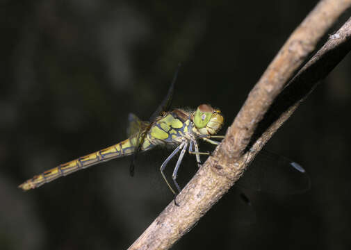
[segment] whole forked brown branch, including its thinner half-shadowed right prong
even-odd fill
[[[171,202],[129,249],[169,249],[234,185],[256,153],[311,92],[316,82],[350,51],[349,19],[286,84],[315,49],[318,40],[350,5],[351,0],[318,3],[256,83],[229,127],[226,138],[215,149],[214,156],[206,160],[178,195],[180,206]],[[247,151],[249,145],[253,145],[254,150]]]

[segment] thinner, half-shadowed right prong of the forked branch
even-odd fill
[[[325,42],[317,53],[300,69],[288,86],[270,106],[264,119],[256,128],[252,141],[254,152],[272,137],[273,133],[290,117],[319,81],[338,65],[351,50],[351,17]],[[257,139],[259,138],[259,139]]]

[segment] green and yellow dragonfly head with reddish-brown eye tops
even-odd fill
[[[193,122],[202,135],[215,135],[223,125],[223,116],[219,109],[209,104],[202,104],[193,113]]]

